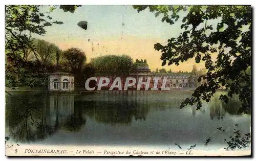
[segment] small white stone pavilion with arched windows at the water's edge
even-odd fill
[[[64,72],[56,72],[49,75],[49,91],[73,91],[74,75]]]

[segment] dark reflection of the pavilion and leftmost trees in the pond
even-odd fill
[[[33,95],[18,101],[8,99],[6,123],[14,141],[29,143],[57,130],[78,131],[86,120],[74,106],[74,95]]]

